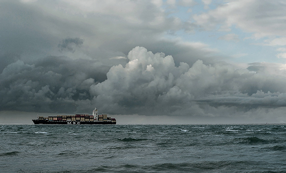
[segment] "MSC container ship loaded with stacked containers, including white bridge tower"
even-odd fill
[[[116,125],[115,118],[107,117],[107,114],[98,115],[98,110],[95,108],[92,115],[75,114],[75,115],[58,115],[49,117],[39,117],[32,120],[34,124],[47,125]]]

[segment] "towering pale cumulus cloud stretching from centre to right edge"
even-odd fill
[[[204,107],[247,112],[286,106],[285,70],[278,77],[277,73],[236,69],[223,62],[205,65],[198,60],[191,67],[184,62],[176,66],[172,56],[153,54],[144,47],[131,50],[128,59],[125,67],[113,66],[106,81],[90,87],[93,101],[101,107],[108,105],[106,110],[113,114],[121,110],[121,114],[178,116],[203,111],[210,115],[214,113]]]

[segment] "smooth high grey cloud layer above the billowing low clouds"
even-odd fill
[[[107,65],[124,65],[126,61],[115,62],[109,58],[126,56],[140,45],[153,52],[173,55],[176,64],[183,61],[191,65],[198,59],[213,63],[218,58],[214,56],[217,51],[208,45],[163,40],[166,31],[179,30],[182,22],[167,17],[168,14],[152,2],[101,2],[88,7],[85,3],[1,1],[0,57],[16,54],[25,62],[33,63],[34,59],[47,55],[65,55],[72,59],[86,56]],[[118,5],[126,10],[118,10]]]

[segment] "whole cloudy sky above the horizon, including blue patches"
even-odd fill
[[[0,0],[0,124],[286,123],[284,0]]]

